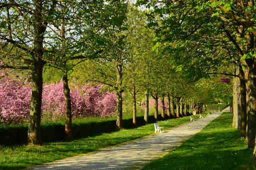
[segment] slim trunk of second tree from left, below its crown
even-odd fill
[[[72,115],[71,115],[71,97],[70,89],[67,80],[67,71],[64,71],[62,78],[63,82],[63,93],[65,97],[65,138],[67,140],[72,139]]]

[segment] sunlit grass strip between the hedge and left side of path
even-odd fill
[[[199,116],[195,116],[198,118]],[[189,116],[159,121],[164,128],[190,121]],[[119,144],[154,133],[153,124],[132,129],[121,129],[111,133],[76,139],[71,142],[51,142],[42,146],[0,146],[0,169],[20,169],[56,159],[86,153],[102,147]]]

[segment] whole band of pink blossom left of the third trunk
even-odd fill
[[[28,120],[31,83],[22,78],[7,78],[0,73],[0,123],[21,124]],[[102,85],[73,85],[70,90],[72,117],[112,116],[115,94],[101,92]],[[56,120],[65,114],[63,82],[44,84],[42,118]]]

